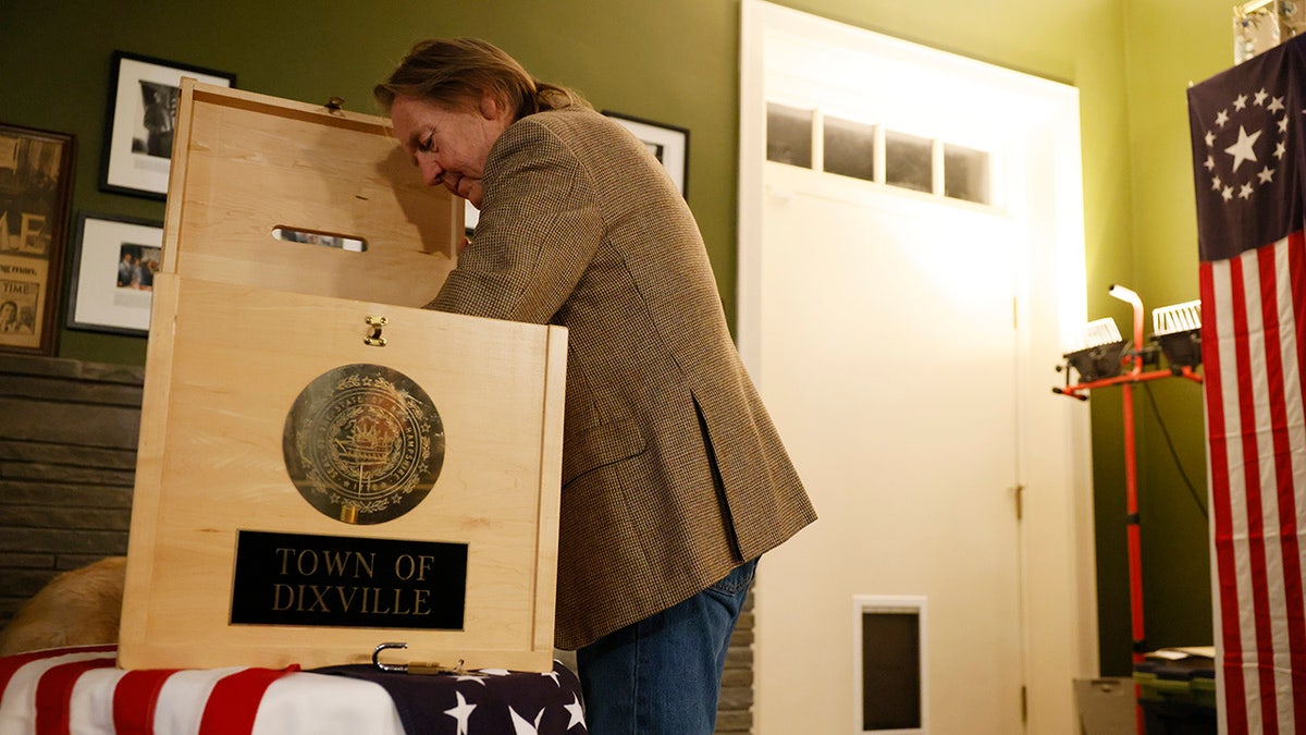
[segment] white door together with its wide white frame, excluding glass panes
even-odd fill
[[[1075,731],[1088,417],[1049,390],[1085,320],[1074,89],[760,0],[741,68],[739,347],[820,514],[759,566],[755,731],[863,732],[866,596],[927,609],[904,731]],[[765,160],[768,103],[816,111],[811,169]],[[993,152],[993,205],[821,171],[827,118]]]

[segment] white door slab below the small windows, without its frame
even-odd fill
[[[760,371],[776,420],[797,428],[786,443],[821,515],[802,540],[846,568],[806,589],[763,577],[759,595],[837,612],[857,594],[925,596],[930,731],[1019,732],[1017,228],[913,196],[827,197],[802,174],[767,167]],[[846,671],[846,640],[814,626],[768,640],[765,657],[824,650]],[[806,685],[835,722],[855,696],[823,677]],[[810,717],[791,709],[765,731]]]

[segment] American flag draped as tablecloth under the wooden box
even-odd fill
[[[580,735],[580,684],[496,670],[366,666],[121,671],[115,646],[0,658],[0,735]]]

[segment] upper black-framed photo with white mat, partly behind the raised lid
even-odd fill
[[[182,77],[235,86],[236,76],[125,51],[114,52],[99,187],[150,199],[167,196],[172,127]]]

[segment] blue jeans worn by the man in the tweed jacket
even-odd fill
[[[757,561],[576,651],[590,735],[712,735],[726,650]]]

